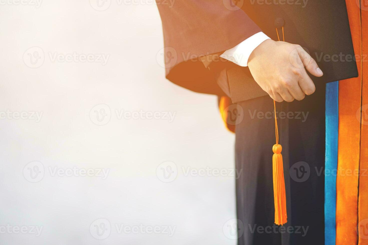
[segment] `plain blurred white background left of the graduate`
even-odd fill
[[[43,113],[39,122],[0,119],[0,226],[43,229],[39,237],[6,232],[0,243],[236,244],[223,232],[236,218],[234,177],[184,176],[182,171],[234,168],[234,135],[224,128],[215,96],[164,78],[156,61],[163,48],[157,6],[112,0],[105,11],[97,11],[89,0],[31,4],[7,0],[0,5],[0,112]],[[44,62],[30,68],[23,57],[35,46],[44,52]],[[110,56],[106,65],[49,57],[74,52]],[[111,109],[103,126],[90,117],[99,104]],[[176,115],[173,122],[118,119],[115,109]],[[33,161],[45,170],[36,183],[23,173]],[[166,161],[178,169],[170,183],[156,175]],[[50,167],[110,172],[105,180],[52,176]],[[97,219],[111,224],[106,239],[90,232]],[[118,234],[116,224],[176,230],[172,237]]]

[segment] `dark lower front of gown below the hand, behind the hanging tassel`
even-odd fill
[[[236,168],[242,169],[236,180],[237,216],[244,227],[238,244],[323,245],[325,84],[302,101],[276,103],[288,215],[281,229],[274,224],[273,100],[259,97],[238,105],[244,111],[236,125]]]

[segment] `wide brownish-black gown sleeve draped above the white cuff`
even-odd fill
[[[162,19],[166,78],[192,91],[224,95],[204,64],[212,62],[211,54],[222,53],[261,29],[232,0],[156,3]]]

